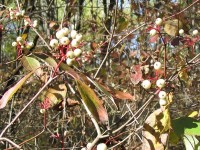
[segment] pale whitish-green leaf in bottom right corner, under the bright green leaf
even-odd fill
[[[186,150],[200,150],[200,142],[195,136],[184,135],[183,142]]]

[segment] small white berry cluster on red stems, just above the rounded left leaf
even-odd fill
[[[22,54],[22,51],[27,49],[29,50],[34,46],[33,42],[28,42],[24,40],[21,36],[16,38],[16,41],[12,42],[12,46],[17,49],[17,56],[19,57]]]

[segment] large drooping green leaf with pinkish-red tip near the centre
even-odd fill
[[[84,103],[94,118],[97,121],[106,123],[108,121],[108,114],[95,92],[81,80],[76,80],[76,83]]]

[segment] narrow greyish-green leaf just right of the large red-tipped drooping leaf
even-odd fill
[[[106,96],[108,96],[108,100],[106,101],[108,103],[108,105],[110,106],[111,109],[113,110],[117,110],[118,107],[112,97],[112,95],[106,91],[106,89],[99,83],[95,82],[94,80],[91,80],[90,78],[88,78],[88,80],[94,85],[96,86],[101,92],[103,92]]]

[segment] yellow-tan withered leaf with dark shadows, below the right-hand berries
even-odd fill
[[[170,130],[169,110],[155,110],[146,119],[143,126],[142,150],[164,150]]]

